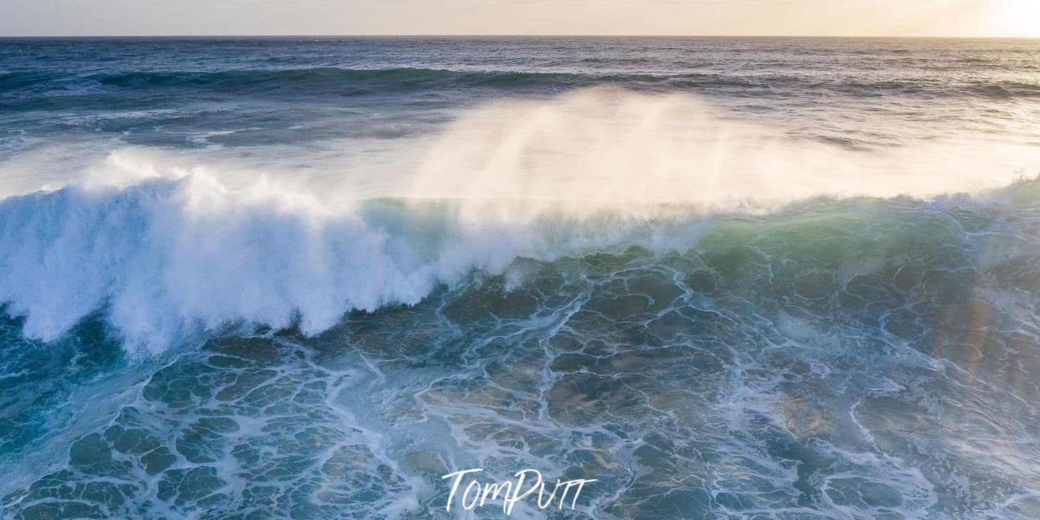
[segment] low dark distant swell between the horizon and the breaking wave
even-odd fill
[[[176,90],[204,89],[242,95],[359,95],[407,90],[436,90],[451,87],[524,89],[558,92],[594,85],[625,85],[633,89],[681,92],[727,89],[730,94],[795,89],[833,92],[852,97],[876,97],[887,94],[950,98],[1015,98],[1040,96],[1040,84],[965,80],[946,81],[889,80],[864,83],[838,80],[817,83],[791,75],[745,71],[733,74],[592,74],[523,71],[451,71],[444,69],[285,69],[238,70],[220,72],[148,71],[59,74],[47,71],[0,74],[0,98],[70,96],[99,89]]]

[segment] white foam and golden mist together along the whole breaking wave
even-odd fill
[[[979,192],[1038,154],[1005,148],[998,162],[983,148],[944,147],[879,157],[688,96],[597,88],[473,109],[414,173],[367,191],[348,175],[326,187],[248,170],[243,180],[129,150],[56,191],[0,202],[0,302],[45,340],[100,310],[152,350],[228,327],[316,334],[349,311],[414,305],[518,258],[684,251],[714,214],[816,198]],[[1008,171],[981,175],[983,161]]]

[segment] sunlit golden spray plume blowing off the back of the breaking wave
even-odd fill
[[[882,152],[794,136],[685,94],[616,88],[489,104],[464,113],[430,148],[411,197],[722,210],[814,197],[978,191],[1040,167],[1037,147],[966,132],[905,138]]]

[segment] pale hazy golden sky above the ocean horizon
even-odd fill
[[[0,0],[0,35],[1040,36],[1040,0]]]

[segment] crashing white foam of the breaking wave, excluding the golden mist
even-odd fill
[[[0,202],[0,302],[44,340],[99,309],[152,349],[236,324],[315,334],[352,310],[415,304],[474,269],[659,245],[661,232],[688,243],[702,222],[648,228],[622,213],[544,210],[519,219],[495,208],[372,200],[334,210],[268,183],[231,190],[201,174],[71,185]]]

